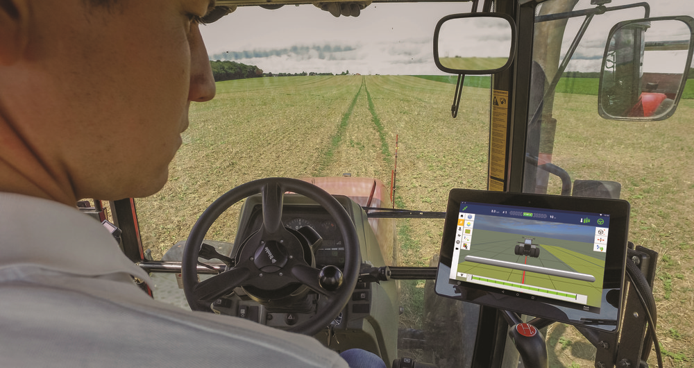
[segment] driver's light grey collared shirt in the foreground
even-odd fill
[[[108,231],[0,192],[0,367],[347,367],[312,337],[152,300]]]

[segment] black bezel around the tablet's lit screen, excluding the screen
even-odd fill
[[[501,206],[521,206],[543,210],[609,214],[609,237],[604,267],[600,308],[588,308],[556,299],[509,292],[496,287],[465,282],[450,282],[450,267],[455,247],[455,233],[462,202]],[[629,232],[629,202],[620,199],[598,199],[546,194],[489,192],[453,189],[448,196],[446,221],[443,225],[436,292],[441,296],[510,310],[523,315],[543,317],[603,331],[617,331],[623,300],[623,281]],[[586,309],[586,310],[584,310]]]

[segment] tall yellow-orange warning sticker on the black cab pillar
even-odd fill
[[[491,97],[491,134],[489,137],[489,190],[504,190],[506,182],[508,116],[509,92],[493,90]]]

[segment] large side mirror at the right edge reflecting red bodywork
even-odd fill
[[[677,109],[694,50],[694,18],[657,17],[613,26],[602,58],[598,113],[663,120]]]

